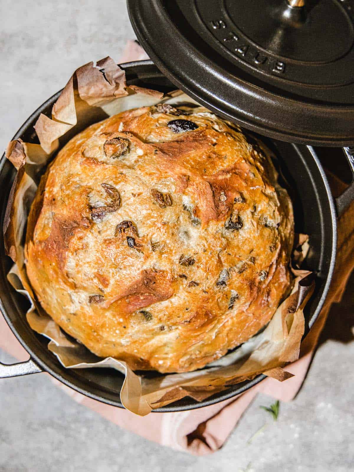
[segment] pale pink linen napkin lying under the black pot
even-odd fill
[[[148,59],[146,53],[136,42],[129,41],[121,62],[140,59]],[[333,194],[340,194],[344,189],[344,184],[331,174],[328,177]],[[340,301],[346,282],[354,267],[353,248],[354,204],[346,210],[338,221],[336,269],[326,303],[311,332],[302,343],[299,360],[287,366],[287,371],[295,376],[284,382],[278,382],[268,377],[242,395],[216,405],[177,413],[151,413],[145,417],[140,417],[127,410],[92,400],[66,387],[56,379],[52,378],[52,381],[58,387],[64,389],[78,403],[100,413],[103,417],[122,428],[177,450],[188,451],[194,455],[210,454],[224,444],[239,418],[258,392],[273,396],[281,401],[289,401],[295,397],[306,376],[330,305],[333,302],[338,303]],[[0,316],[0,333],[0,348],[19,361],[28,359],[28,354],[14,337],[2,316]]]

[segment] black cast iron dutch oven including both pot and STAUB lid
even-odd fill
[[[316,288],[304,311],[306,336],[331,282],[337,217],[354,200],[354,1],[128,0],[127,4],[135,33],[152,58],[120,66],[127,84],[162,92],[177,86],[218,115],[260,135],[277,156],[280,183],[294,205],[295,232],[310,235],[304,267],[314,272]],[[51,117],[60,92],[26,120],[13,139],[38,143],[34,123],[40,113]],[[326,155],[332,169],[345,169],[350,181],[335,200],[319,155]],[[3,155],[1,228],[15,174]],[[30,354],[27,362],[0,363],[0,377],[46,371],[84,395],[122,407],[123,375],[110,369],[65,369],[48,350],[48,340],[29,327],[28,302],[7,280],[12,261],[5,255],[3,238],[0,251],[0,309]],[[264,377],[233,385],[202,402],[185,397],[154,411],[211,405],[244,392]]]

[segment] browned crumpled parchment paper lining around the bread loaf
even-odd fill
[[[281,303],[264,330],[204,369],[155,378],[137,375],[126,362],[118,359],[95,356],[69,338],[36,302],[25,270],[25,227],[39,177],[54,152],[84,127],[121,111],[185,101],[196,103],[181,91],[164,95],[135,85],[127,86],[125,72],[108,57],[95,65],[90,62],[79,67],[54,104],[51,118],[41,114],[34,126],[40,145],[18,139],[10,142],[6,150],[6,157],[17,169],[4,224],[5,247],[15,262],[8,280],[30,301],[26,313],[29,325],[50,339],[48,348],[64,367],[111,367],[121,372],[125,376],[121,402],[128,410],[142,416],[184,396],[201,401],[260,373],[279,381],[292,377],[283,367],[298,359],[304,332],[303,308],[314,288],[311,273],[298,267],[308,249],[307,236],[300,235],[294,252],[297,267],[293,270],[296,278],[291,295]]]

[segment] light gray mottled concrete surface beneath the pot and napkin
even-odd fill
[[[1,0],[0,18],[1,149],[77,66],[118,60],[134,38],[124,0]],[[259,408],[271,399],[259,396],[214,455],[139,438],[34,375],[0,380],[0,471],[353,471],[353,290],[354,277],[332,308],[301,392],[280,405],[278,421]]]

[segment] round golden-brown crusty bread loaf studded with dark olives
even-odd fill
[[[90,126],[31,208],[39,302],[98,356],[203,367],[256,334],[289,291],[293,212],[277,177],[267,151],[202,108],[160,104]]]

